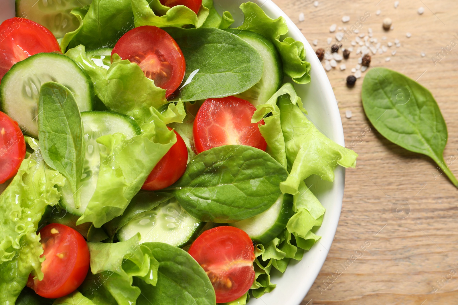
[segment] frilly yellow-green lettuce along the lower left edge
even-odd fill
[[[35,152],[22,164],[10,185],[0,195],[0,300],[14,304],[33,271],[43,278],[40,258],[43,248],[36,234],[48,205],[59,202],[64,177],[49,169]]]

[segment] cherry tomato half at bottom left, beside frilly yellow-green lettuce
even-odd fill
[[[27,286],[44,298],[55,299],[75,291],[89,269],[89,249],[84,237],[66,225],[49,224],[39,231],[45,257],[44,278],[29,276]]]

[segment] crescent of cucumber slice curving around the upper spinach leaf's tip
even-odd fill
[[[233,29],[226,31],[251,44],[264,60],[264,71],[262,72],[261,80],[255,86],[236,96],[250,101],[255,106],[267,102],[283,82],[283,64],[277,48],[269,39],[255,32]]]

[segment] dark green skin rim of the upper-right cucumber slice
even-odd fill
[[[261,34],[258,34],[258,33],[255,33],[255,32],[251,32],[251,31],[245,31],[245,30],[234,30],[234,29],[226,29],[224,31],[227,31],[227,32],[230,32],[230,33],[233,33],[234,35],[237,35],[239,36],[240,38],[242,38],[243,40],[245,40],[244,37],[251,37],[251,38],[255,38],[255,39],[258,39],[260,40],[262,43],[264,43],[269,49],[270,49],[270,53],[273,55],[273,57],[275,58],[275,62],[277,64],[277,70],[278,70],[278,79],[277,79],[277,86],[274,86],[271,90],[272,94],[269,94],[268,96],[272,96],[275,92],[277,92],[278,89],[280,89],[282,83],[283,83],[283,79],[284,79],[284,72],[283,72],[283,62],[282,62],[282,59],[280,57],[280,53],[278,52],[277,48],[275,47],[275,45],[265,36],[261,35]],[[250,43],[250,41],[248,40],[245,40],[245,42],[247,43]],[[251,45],[251,43],[250,43]],[[262,56],[262,54],[261,54]],[[263,71],[263,75],[264,75],[264,71]],[[261,81],[260,81],[261,82]],[[257,83],[255,86],[257,86],[259,83]],[[250,91],[251,89],[248,89],[247,91],[245,92],[248,92]],[[238,94],[237,96],[239,96],[240,98],[244,98],[243,94],[245,92],[242,92],[240,94]],[[252,101],[250,101],[252,102]],[[259,104],[262,104],[264,102],[267,102],[266,101],[262,101],[262,102],[257,102],[257,103],[253,103],[255,106],[256,105],[259,105]]]

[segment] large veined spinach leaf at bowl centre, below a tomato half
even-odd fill
[[[196,219],[228,223],[270,208],[286,177],[286,169],[265,151],[224,145],[196,155],[180,180],[164,191]]]

